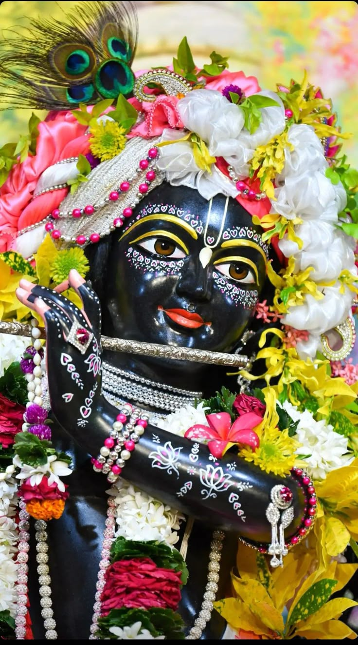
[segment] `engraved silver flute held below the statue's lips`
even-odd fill
[[[31,326],[24,323],[0,322],[0,333],[10,333],[15,336],[31,336]],[[41,338],[46,338],[44,328],[40,328]],[[154,356],[172,361],[203,362],[212,365],[226,365],[250,369],[249,357],[241,354],[227,354],[224,352],[208,352],[207,350],[193,350],[189,347],[174,347],[160,345],[155,342],[128,341],[122,338],[109,338],[102,336],[102,348],[111,352],[125,352],[128,354],[141,354]]]

